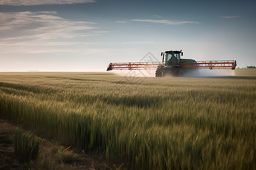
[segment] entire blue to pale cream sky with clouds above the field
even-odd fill
[[[0,71],[106,71],[110,62],[161,61],[161,52],[180,49],[196,61],[256,66],[255,6],[246,0],[0,0]]]

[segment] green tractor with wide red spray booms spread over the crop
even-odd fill
[[[144,70],[156,69],[155,76],[183,76],[184,73],[198,69],[236,69],[237,62],[233,61],[195,61],[195,59],[180,58],[182,50],[168,50],[161,53],[162,62],[127,62],[110,63],[110,70]]]

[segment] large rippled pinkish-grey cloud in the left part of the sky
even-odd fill
[[[75,22],[55,11],[0,12],[1,40],[49,40],[95,35],[92,22]],[[97,32],[98,34],[99,32]]]

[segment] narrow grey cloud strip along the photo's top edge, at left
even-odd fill
[[[93,3],[94,0],[1,0],[0,5],[31,6],[31,5],[64,5],[74,3]]]

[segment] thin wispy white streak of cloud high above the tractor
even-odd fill
[[[166,25],[180,25],[180,24],[198,24],[199,22],[181,21],[181,20],[155,20],[155,19],[130,19],[133,22],[148,22],[148,23],[159,23]]]

